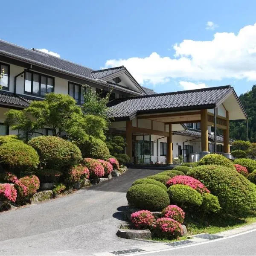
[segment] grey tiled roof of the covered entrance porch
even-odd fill
[[[116,100],[111,103],[109,115],[113,118],[128,118],[134,113],[177,111],[213,106],[231,91],[233,91],[233,87],[228,85],[125,98],[121,102]]]

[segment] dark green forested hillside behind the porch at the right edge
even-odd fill
[[[249,140],[256,142],[256,85],[239,96],[248,115]],[[230,121],[230,138],[234,140],[247,140],[247,122]]]

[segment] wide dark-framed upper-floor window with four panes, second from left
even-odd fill
[[[54,92],[54,78],[38,73],[25,72],[25,93],[44,97]]]

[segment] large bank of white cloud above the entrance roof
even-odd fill
[[[217,32],[212,41],[183,40],[173,46],[174,57],[152,52],[145,58],[108,60],[105,68],[124,65],[141,84],[181,81],[256,80],[256,23],[238,34]]]

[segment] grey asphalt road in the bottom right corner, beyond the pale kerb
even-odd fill
[[[256,230],[180,249],[156,250],[151,253],[138,253],[137,255],[256,255]]]

